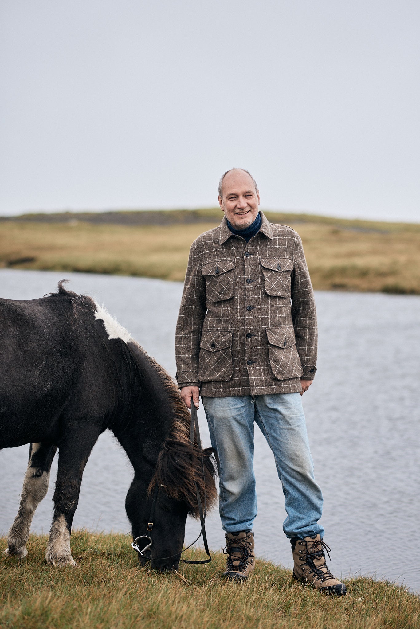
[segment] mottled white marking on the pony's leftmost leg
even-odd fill
[[[31,459],[40,446],[40,443],[32,444]],[[8,548],[4,551],[8,555],[26,557],[28,554],[26,542],[28,542],[33,514],[38,504],[45,498],[50,482],[49,472],[43,472],[42,476],[35,476],[36,471],[35,467],[31,467],[30,460],[25,479],[23,479],[18,515],[14,518],[8,533]]]

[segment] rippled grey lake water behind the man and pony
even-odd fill
[[[171,374],[175,373],[174,330],[182,284],[160,280],[0,270],[0,296],[33,299],[55,290],[57,281],[86,292],[108,310]],[[322,523],[338,576],[369,574],[420,589],[420,298],[316,292],[319,363],[303,401],[315,475],[324,493]],[[210,445],[200,409],[205,445]],[[0,532],[18,508],[28,446],[0,454]],[[106,462],[106,463],[105,463]],[[57,469],[52,471],[54,481]],[[284,537],[283,494],[268,445],[256,430],[255,469],[258,517],[256,552],[290,567]],[[94,447],[84,472],[74,526],[129,532],[125,493],[132,468],[111,433]],[[51,483],[32,530],[48,532]],[[211,548],[224,546],[219,515],[207,521]],[[186,527],[190,543],[199,530]],[[198,568],[200,570],[205,568]]]

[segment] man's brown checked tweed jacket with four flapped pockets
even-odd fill
[[[219,227],[191,245],[176,325],[178,386],[201,396],[302,391],[317,359],[314,293],[298,234],[269,223],[245,242]]]

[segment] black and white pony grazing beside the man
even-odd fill
[[[0,449],[30,443],[6,553],[27,554],[31,520],[47,493],[58,448],[45,557],[52,565],[75,565],[70,534],[82,474],[106,428],[134,468],[125,501],[133,538],[147,530],[157,485],[152,565],[174,569],[186,516],[198,515],[195,482],[207,506],[216,498],[211,449],[203,450],[203,477],[201,452],[190,445],[190,413],[176,385],[105,308],[65,290],[63,281],[41,299],[0,299]]]

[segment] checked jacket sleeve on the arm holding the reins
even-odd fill
[[[205,279],[201,275],[200,259],[196,253],[196,243],[193,242],[175,331],[176,380],[179,388],[200,386],[198,353],[207,311],[205,299]]]

